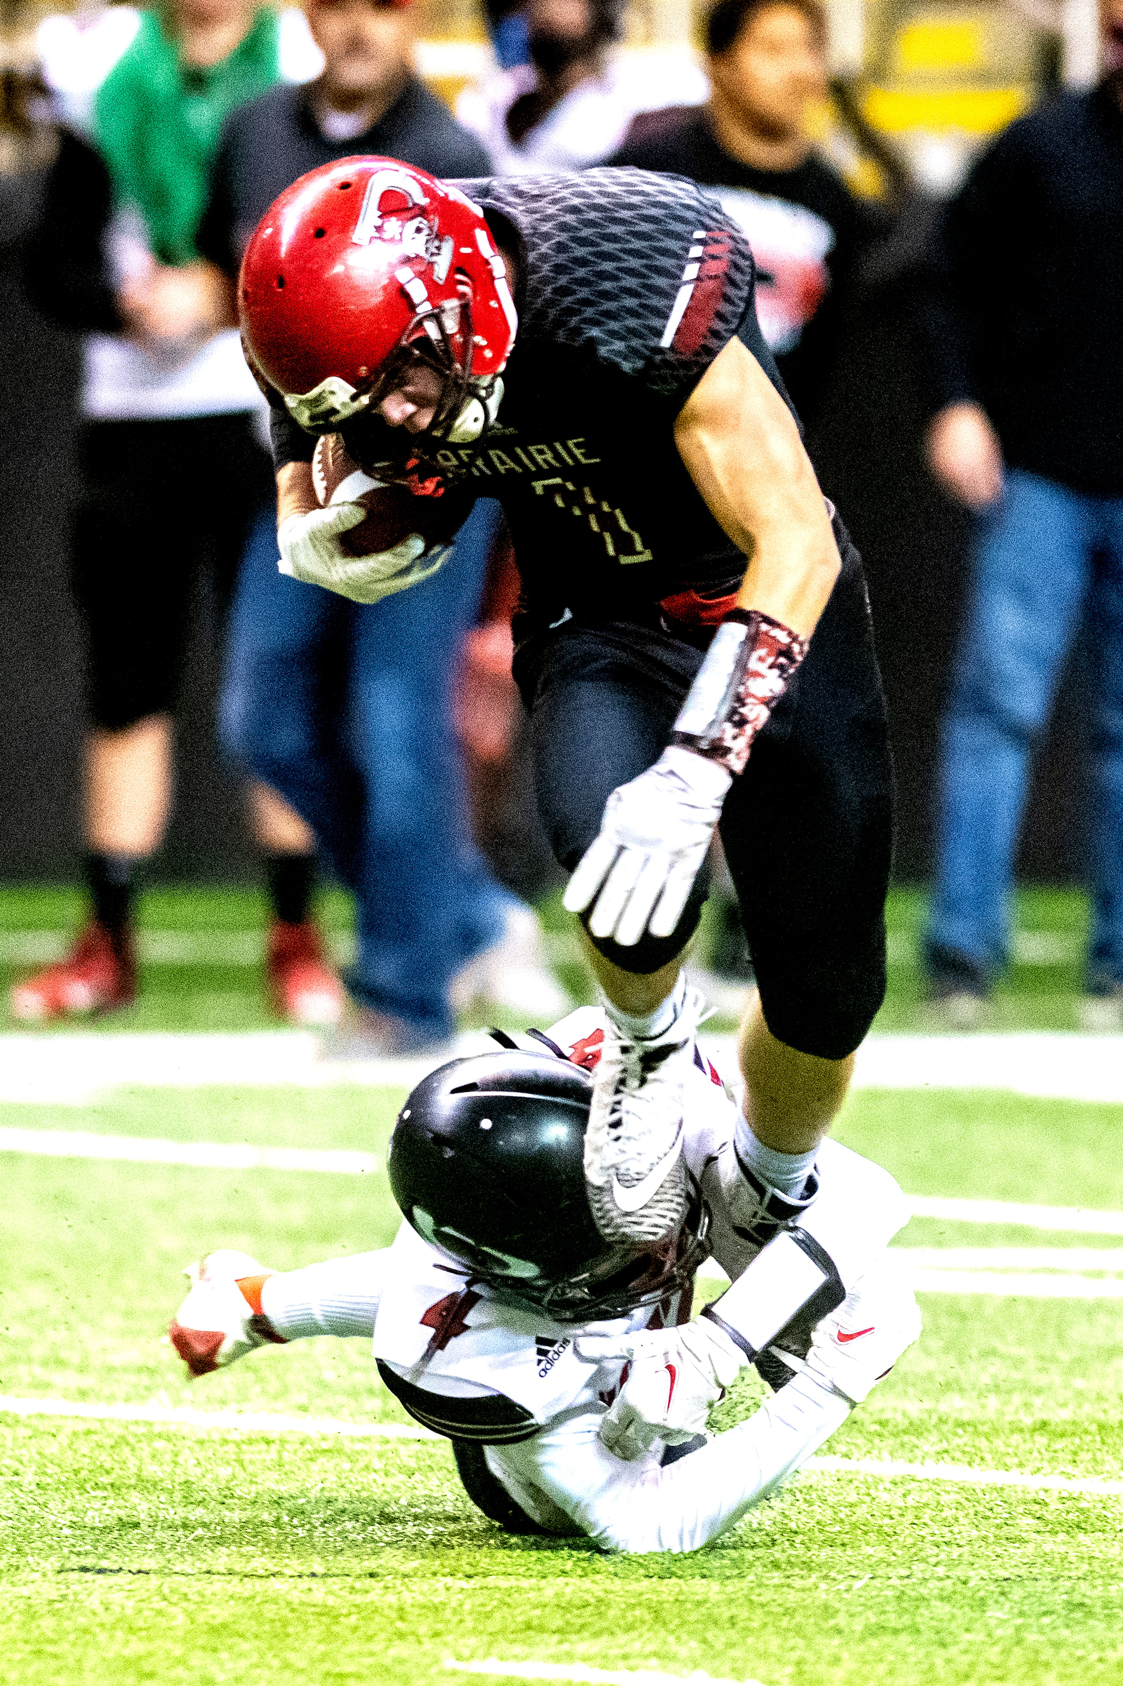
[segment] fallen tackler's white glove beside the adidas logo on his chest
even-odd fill
[[[644,1457],[656,1440],[674,1447],[700,1435],[710,1406],[745,1366],[745,1354],[717,1324],[696,1320],[636,1335],[578,1335],[577,1357],[590,1364],[631,1361],[599,1431],[626,1463]]]

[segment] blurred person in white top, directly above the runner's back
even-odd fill
[[[531,62],[497,71],[457,101],[457,116],[479,135],[499,175],[580,170],[619,147],[636,111],[705,98],[688,54],[673,86],[656,64],[610,56],[624,0],[528,0],[523,15]]]

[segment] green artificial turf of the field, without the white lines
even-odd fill
[[[71,892],[0,892],[0,932],[62,932],[78,905]],[[346,899],[325,899],[324,912],[342,944]],[[884,1027],[922,1025],[921,917],[917,897],[895,897]],[[261,905],[153,892],[143,919],[152,931],[244,939],[260,932]],[[577,991],[556,907],[546,922]],[[1072,958],[1015,968],[998,1020],[1076,1025],[1084,922],[1077,897],[1024,897],[1024,929],[1059,932]],[[142,1003],[103,1028],[268,1027],[244,941],[241,953],[239,964],[148,966]],[[381,1157],[400,1099],[357,1087],[120,1089],[83,1106],[0,1104],[0,1126]],[[1120,1126],[1120,1106],[858,1091],[836,1133],[914,1194],[1123,1207]],[[0,1226],[0,1393],[403,1421],[363,1342],[270,1347],[187,1384],[162,1339],[180,1268],[212,1246],[292,1268],[386,1244],[396,1214],[379,1173],[3,1153]],[[1118,1246],[934,1219],[914,1221],[902,1241]],[[921,1344],[830,1452],[1123,1477],[1121,1302],[927,1293],[921,1303]],[[739,1384],[715,1426],[757,1394]],[[465,1678],[450,1659],[491,1657],[764,1686],[1118,1686],[1121,1543],[1118,1497],[848,1472],[804,1474],[690,1558],[605,1558],[499,1533],[467,1501],[443,1443],[0,1413],[0,1683],[428,1686]]]

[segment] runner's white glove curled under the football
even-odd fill
[[[393,550],[374,556],[351,556],[339,536],[359,526],[366,509],[361,504],[329,504],[302,516],[288,516],[277,529],[280,573],[305,585],[322,585],[349,597],[352,604],[376,604],[408,585],[420,585],[449,560],[450,545],[425,550],[420,533],[410,533]]]

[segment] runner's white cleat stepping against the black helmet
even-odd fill
[[[636,1040],[605,1015],[585,1131],[585,1184],[607,1241],[664,1241],[683,1221],[683,1087],[703,1005],[698,990],[686,988],[669,1028]]]

